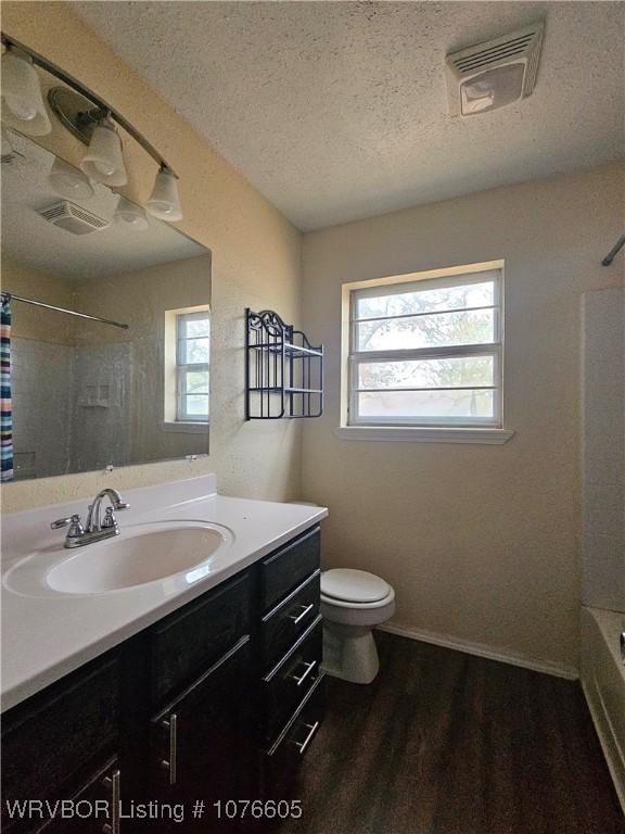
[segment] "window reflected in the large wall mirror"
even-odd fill
[[[208,311],[176,316],[176,419],[208,421]]]

